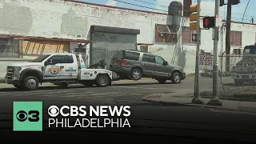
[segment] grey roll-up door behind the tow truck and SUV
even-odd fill
[[[91,35],[90,64],[105,60],[109,69],[117,50],[137,50],[137,35],[93,32]]]

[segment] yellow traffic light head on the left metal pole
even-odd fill
[[[198,5],[190,5],[190,30],[197,30],[198,13],[200,13],[200,11],[198,11]]]

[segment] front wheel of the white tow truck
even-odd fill
[[[39,85],[38,78],[34,76],[29,76],[23,80],[22,87],[24,87],[25,90],[38,90],[38,85]]]

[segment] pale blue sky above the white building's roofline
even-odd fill
[[[119,6],[136,10],[148,10],[160,13],[167,13],[170,2],[174,0],[80,0],[83,2],[92,2],[108,6]],[[183,0],[176,0],[183,2]],[[225,0],[227,2],[227,0]],[[241,3],[232,6],[232,21],[251,22],[254,18],[256,23],[256,0],[240,0]],[[249,5],[247,6],[247,3]],[[197,0],[192,0],[196,4]],[[214,16],[215,0],[201,0],[202,16]],[[247,9],[246,9],[247,6]],[[245,15],[244,15],[245,14]],[[222,19],[226,19],[226,6],[220,7]],[[244,16],[243,16],[244,15]]]

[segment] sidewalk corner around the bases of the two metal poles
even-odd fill
[[[197,105],[191,103],[193,99],[193,93],[191,91],[182,91],[181,93],[168,93],[168,94],[150,94],[146,97],[143,97],[142,100],[148,102],[158,102],[166,105],[172,106],[203,106],[210,108],[221,108],[221,109],[230,109],[230,110],[254,110],[256,111],[256,102],[244,102],[244,101],[230,101],[221,99],[223,106],[208,106],[207,103],[210,101],[210,98],[202,98],[204,104]]]

